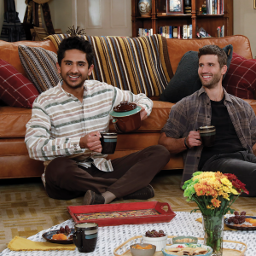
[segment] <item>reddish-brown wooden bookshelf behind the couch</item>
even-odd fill
[[[139,28],[152,28],[153,33],[156,34],[159,33],[160,26],[183,26],[189,24],[192,24],[192,38],[197,38],[197,29],[201,27],[214,38],[218,37],[218,26],[224,26],[224,36],[233,35],[233,0],[224,0],[223,15],[201,14],[199,10],[204,0],[191,0],[191,15],[166,15],[166,1],[169,0],[152,0],[151,15],[142,17],[138,9],[139,0],[131,0],[132,37],[138,36]]]

